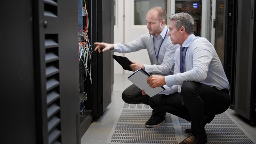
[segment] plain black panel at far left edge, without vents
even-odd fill
[[[32,3],[6,0],[0,4],[0,143],[36,144]]]

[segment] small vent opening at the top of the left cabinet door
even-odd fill
[[[57,0],[44,0],[44,16],[58,17]]]

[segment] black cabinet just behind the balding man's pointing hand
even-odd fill
[[[89,31],[88,36],[92,44],[92,49],[96,47],[94,42],[114,42],[114,1],[113,0],[90,0],[86,1],[89,5]],[[113,85],[113,65],[111,58],[113,52],[107,51],[92,53],[92,85],[85,84],[85,90],[92,98],[93,116],[103,115],[103,111],[111,103],[111,92]]]

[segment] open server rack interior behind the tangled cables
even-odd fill
[[[83,8],[84,7],[84,8]],[[86,19],[89,17],[85,12],[85,7],[88,9],[90,7],[88,4],[85,5],[84,0],[78,0],[78,33],[82,34],[85,30],[86,26]],[[91,42],[91,39],[88,38],[89,43]],[[85,42],[87,41],[83,37],[78,38],[78,42]],[[79,49],[80,51],[80,49]],[[89,56],[89,55],[88,55]],[[87,68],[85,67],[84,63],[86,63],[84,59],[87,59],[87,61],[90,61],[87,63]],[[84,61],[83,61],[84,60]],[[92,97],[91,95],[91,79],[89,72],[90,71],[90,63],[92,63],[90,56],[89,57],[81,57],[81,60],[79,60],[79,98],[80,101],[77,103],[80,107],[80,115],[78,116],[78,133],[79,133],[79,143],[80,139],[82,138],[85,131],[88,129],[88,127],[93,122],[93,115],[92,115]],[[87,71],[88,69],[88,71]],[[92,74],[92,73],[91,73]]]

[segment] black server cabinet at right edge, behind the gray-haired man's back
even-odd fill
[[[234,110],[256,121],[255,96],[255,1],[237,1],[237,35]]]

